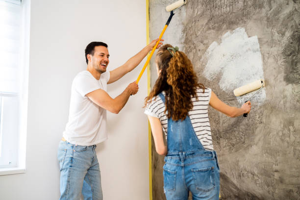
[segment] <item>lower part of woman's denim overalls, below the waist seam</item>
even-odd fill
[[[220,169],[215,151],[165,157],[164,191],[167,200],[219,200]]]

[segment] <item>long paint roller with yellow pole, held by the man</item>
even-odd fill
[[[166,23],[164,29],[162,30],[162,32],[161,32],[160,35],[159,35],[159,40],[156,42],[155,46],[154,46],[153,49],[151,50],[151,53],[150,53],[150,55],[148,56],[147,61],[146,61],[146,63],[145,63],[145,65],[144,65],[144,67],[143,67],[141,73],[139,74],[139,76],[138,76],[138,78],[137,78],[137,80],[136,80],[136,83],[138,83],[138,82],[140,81],[142,75],[144,74],[145,69],[146,69],[147,65],[149,64],[149,62],[150,62],[150,59],[151,59],[151,57],[152,57],[154,51],[155,51],[156,48],[157,48],[157,45],[159,44],[159,42],[160,42],[160,40],[161,40],[163,34],[165,33],[165,31],[166,31],[168,25],[170,24],[170,22],[171,22],[171,20],[172,20],[172,17],[173,17],[173,15],[174,15],[174,11],[175,11],[176,9],[180,8],[181,6],[183,6],[184,4],[186,4],[186,0],[178,0],[178,1],[176,1],[175,3],[172,3],[172,4],[170,4],[170,5],[168,5],[168,6],[166,7],[167,12],[170,12],[170,11],[171,11],[170,17],[169,17],[169,19],[168,19],[168,21],[167,21],[167,23]]]

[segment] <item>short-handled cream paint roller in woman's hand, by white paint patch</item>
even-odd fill
[[[263,79],[259,79],[259,80],[255,80],[254,82],[251,82],[247,85],[244,85],[242,87],[239,87],[235,90],[233,90],[233,94],[238,97],[238,96],[241,96],[241,95],[245,95],[247,93],[250,93],[254,90],[257,90],[257,92],[255,92],[248,100],[245,101],[245,103],[247,101],[249,101],[256,93],[258,93],[263,87],[265,87],[265,81]],[[248,113],[244,113],[243,115],[244,117],[247,117],[248,116]]]

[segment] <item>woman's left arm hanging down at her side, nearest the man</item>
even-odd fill
[[[160,124],[160,121],[156,117],[152,117],[148,115],[148,119],[150,122],[151,130],[152,130],[152,135],[154,139],[154,144],[155,144],[155,149],[156,152],[159,155],[166,155],[167,154],[167,146],[164,143],[164,138],[163,138],[163,130]]]

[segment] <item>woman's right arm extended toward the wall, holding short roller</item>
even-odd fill
[[[209,105],[214,109],[224,113],[228,117],[238,117],[240,115],[243,115],[244,113],[249,113],[251,110],[250,101],[244,103],[241,108],[229,106],[225,104],[222,100],[219,100],[217,95],[213,91],[211,91]]]

